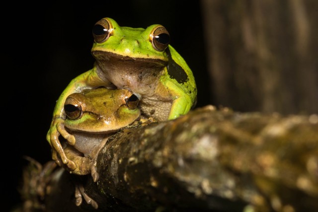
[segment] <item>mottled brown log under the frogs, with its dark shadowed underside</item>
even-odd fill
[[[99,152],[97,171],[97,183],[51,171],[43,211],[318,211],[318,115],[198,108],[121,130]],[[97,210],[75,206],[79,181]]]

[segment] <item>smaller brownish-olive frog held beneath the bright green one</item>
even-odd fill
[[[132,124],[139,124],[141,112],[138,108],[139,99],[127,89],[85,89],[81,93],[73,93],[66,98],[65,129],[75,137],[76,142],[68,142],[62,146],[65,155],[75,165],[75,169],[61,164],[56,155],[56,162],[65,166],[73,174],[91,174],[93,181],[98,180],[96,159],[107,139],[119,129]],[[146,119],[142,119],[146,120]],[[97,209],[98,204],[91,199],[79,183],[75,186],[76,205],[84,200]]]

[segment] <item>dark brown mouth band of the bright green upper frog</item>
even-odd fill
[[[145,65],[149,64],[149,66],[158,66],[163,67],[166,66],[168,61],[163,61],[160,59],[152,59],[152,58],[133,58],[129,56],[122,56],[111,52],[103,52],[103,51],[92,51],[92,55],[97,61],[108,61],[108,62],[133,62],[133,63],[142,63]]]

